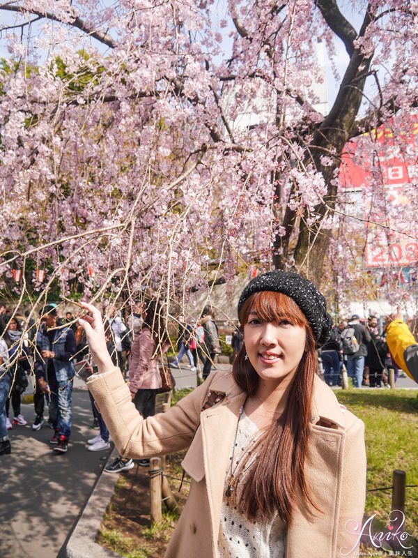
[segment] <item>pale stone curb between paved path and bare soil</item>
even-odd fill
[[[106,465],[117,456],[118,451],[114,448]],[[88,498],[86,506],[84,506],[82,515],[65,546],[66,558],[121,558],[121,555],[117,552],[104,548],[95,542],[102,525],[103,515],[111,497],[114,495],[118,478],[118,474],[110,475],[104,472],[100,474],[95,488]]]

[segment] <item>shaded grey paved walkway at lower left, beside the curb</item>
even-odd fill
[[[0,458],[1,558],[56,558],[102,471],[100,458],[109,451],[86,449],[86,439],[98,434],[86,389],[76,387],[73,405],[64,455],[52,451],[46,425],[39,432],[29,425],[10,430],[12,453]],[[33,405],[23,405],[22,414],[32,420]]]

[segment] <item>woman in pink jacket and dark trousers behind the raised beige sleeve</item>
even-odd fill
[[[161,387],[160,358],[169,348],[169,343],[159,303],[154,300],[148,301],[142,318],[142,329],[132,344],[129,389],[137,411],[147,418],[155,415],[155,398]],[[139,459],[138,463],[141,467],[148,467],[150,460]],[[133,466],[132,459],[123,459],[119,455],[104,470],[107,473],[118,473],[132,469]]]

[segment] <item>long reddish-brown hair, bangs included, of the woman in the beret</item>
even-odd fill
[[[263,322],[287,319],[306,331],[305,351],[293,377],[284,414],[256,442],[257,458],[253,464],[247,465],[249,458],[244,460],[236,477],[237,483],[242,482],[242,497],[236,502],[241,513],[249,520],[255,520],[260,517],[271,519],[277,512],[288,524],[295,500],[300,496],[319,511],[311,499],[304,475],[316,371],[315,340],[302,310],[286,294],[263,291],[249,296],[239,316],[241,329],[247,324],[250,312],[256,312]],[[232,374],[248,395],[255,393],[260,378],[250,361],[245,359],[245,345],[235,358]],[[251,453],[254,455],[254,450]]]

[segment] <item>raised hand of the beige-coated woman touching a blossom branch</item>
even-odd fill
[[[95,365],[97,365],[99,372],[107,372],[107,370],[114,368],[114,363],[111,361],[109,351],[107,350],[102,315],[93,304],[86,302],[81,302],[80,304],[89,312],[87,315],[79,318],[79,324],[86,332],[91,357]]]

